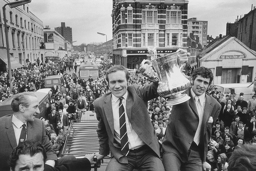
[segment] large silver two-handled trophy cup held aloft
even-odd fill
[[[179,68],[177,61],[179,51],[154,58],[151,61],[144,59],[141,62],[141,65],[147,63],[154,67],[158,74],[158,77],[154,77],[159,81],[157,93],[161,97],[168,98],[166,105],[176,105],[190,99],[187,94],[182,94],[190,87],[190,81],[181,73],[185,64]]]

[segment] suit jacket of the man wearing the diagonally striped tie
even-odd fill
[[[151,124],[147,110],[147,101],[158,97],[156,92],[158,83],[150,83],[140,87],[132,84],[127,87],[128,96],[126,101],[126,112],[132,128],[140,139],[148,145],[157,156],[160,157],[159,144],[156,133]],[[120,163],[128,163],[127,157],[122,155],[120,144],[114,141],[114,119],[112,112],[111,93],[107,93],[95,100],[95,113],[99,120],[97,134],[99,137],[99,153],[111,155]]]

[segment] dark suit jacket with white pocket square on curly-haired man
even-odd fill
[[[167,125],[165,138],[162,143],[163,152],[173,152],[179,156],[180,160],[183,162],[187,161],[187,154],[199,124],[196,104],[190,89],[188,89],[186,93],[189,94],[190,99],[172,107],[170,121]],[[220,110],[220,103],[206,93],[199,143],[201,149],[200,156],[203,162],[206,160],[207,145],[211,137],[212,126],[214,126]],[[213,119],[212,123],[208,123],[210,117]]]

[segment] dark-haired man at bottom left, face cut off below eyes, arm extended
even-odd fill
[[[87,154],[84,158],[66,161],[59,166],[52,167],[45,164],[48,159],[44,146],[35,140],[26,140],[24,144],[17,146],[12,150],[9,159],[11,171],[34,170],[37,171],[90,171],[94,154]]]

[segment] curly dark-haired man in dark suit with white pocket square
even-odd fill
[[[190,100],[174,105],[162,143],[165,171],[202,171],[210,169],[206,162],[207,145],[212,126],[221,105],[205,93],[211,84],[211,69],[199,67],[191,77]]]

